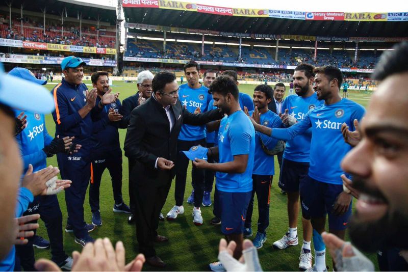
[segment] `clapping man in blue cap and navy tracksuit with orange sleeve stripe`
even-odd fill
[[[75,242],[83,247],[87,242],[93,242],[88,232],[95,227],[84,221],[84,201],[86,189],[91,176],[91,157],[93,147],[91,111],[98,114],[104,105],[115,102],[118,94],[110,91],[95,106],[97,97],[96,89],[88,92],[82,79],[83,66],[86,65],[81,58],[70,56],[61,62],[64,78],[51,93],[54,96],[55,111],[53,112],[56,123],[56,135],[60,137],[75,137],[74,144],[81,145],[81,149],[74,155],[58,153],[58,166],[61,177],[72,180],[71,188],[65,192],[65,201],[68,211],[66,232],[73,232]]]

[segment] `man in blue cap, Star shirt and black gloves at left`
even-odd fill
[[[25,80],[32,81],[39,85],[45,85],[46,80],[35,78],[34,74],[25,68],[15,67],[9,72],[13,75]],[[21,111],[16,111],[16,116],[20,115]],[[33,166],[33,171],[39,171],[46,167],[46,158],[51,157],[57,152],[75,152],[80,146],[72,146],[73,137],[52,138],[45,127],[45,119],[43,114],[37,112],[25,113],[27,115],[27,127],[16,136],[16,141],[19,144],[21,156],[23,159],[23,173],[27,172],[29,165]],[[72,148],[72,149],[71,149]],[[71,150],[70,150],[71,149]],[[64,269],[70,269],[72,266],[72,258],[68,257],[64,252],[62,241],[62,212],[56,195],[39,196],[34,198],[30,203],[24,215],[39,213],[41,219],[45,222],[48,237],[52,243],[51,253],[52,260],[59,264]],[[29,239],[29,243],[24,246],[17,246],[17,257],[24,270],[34,270],[34,250],[35,239],[39,236],[34,236]],[[43,242],[44,246],[49,247],[49,242]],[[36,247],[39,247],[38,245]]]

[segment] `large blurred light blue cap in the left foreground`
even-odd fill
[[[0,63],[0,103],[17,110],[48,114],[54,111],[54,99],[40,84],[4,73]]]

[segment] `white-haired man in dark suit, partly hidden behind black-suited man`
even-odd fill
[[[131,117],[131,112],[135,107],[137,107],[140,104],[143,104],[146,99],[149,99],[151,96],[151,80],[153,79],[154,75],[146,70],[142,71],[137,75],[137,93],[127,97],[122,101],[122,107],[120,108],[120,114],[123,116],[123,119],[121,120],[121,123],[125,125],[125,127],[121,128],[127,128],[129,125],[129,119]],[[135,161],[127,158],[127,161],[129,161],[128,168],[129,168],[129,176],[131,175],[132,168],[135,165]],[[131,214],[129,215],[127,222],[129,224],[134,224],[135,223],[135,198],[134,198],[134,189],[133,189],[133,184],[129,182],[129,206],[131,208]],[[164,220],[164,217],[163,217]]]

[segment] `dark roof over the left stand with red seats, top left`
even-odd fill
[[[96,20],[99,14],[104,22],[116,24],[116,8],[103,5],[88,4],[75,0],[12,0],[11,7],[20,9],[23,5],[23,10],[42,12],[46,8],[47,14],[61,15],[61,12],[66,8],[67,17],[76,18],[78,12],[82,12],[83,19]],[[64,11],[65,12],[65,11]]]

